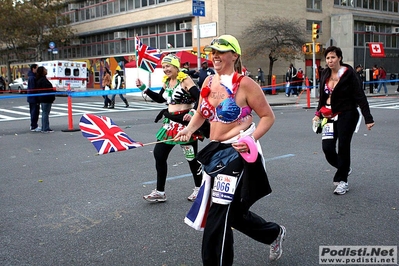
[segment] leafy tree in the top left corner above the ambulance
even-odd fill
[[[45,44],[73,38],[69,19],[62,16],[63,0],[0,0],[0,59],[13,62],[41,61]]]

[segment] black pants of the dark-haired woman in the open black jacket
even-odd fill
[[[348,172],[351,163],[351,141],[359,119],[359,112],[354,109],[338,115],[334,121],[334,138],[322,141],[322,147],[327,162],[337,168],[334,182],[348,182]],[[337,152],[338,141],[338,152]]]

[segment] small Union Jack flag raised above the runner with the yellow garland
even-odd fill
[[[136,58],[138,67],[149,72],[154,72],[161,58],[161,54],[157,49],[143,44],[140,39],[136,37]]]

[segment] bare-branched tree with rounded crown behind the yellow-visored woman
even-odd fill
[[[254,20],[244,30],[243,36],[243,55],[246,58],[269,58],[269,85],[274,62],[279,58],[288,61],[300,58],[302,45],[306,43],[305,26],[298,21],[280,17]]]

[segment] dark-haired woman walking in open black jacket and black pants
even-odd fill
[[[342,50],[330,46],[324,56],[328,67],[321,73],[320,101],[313,122],[323,120],[323,152],[328,163],[337,168],[333,180],[336,186],[334,194],[343,195],[349,190],[350,146],[359,120],[357,107],[368,130],[374,126],[374,120],[355,70],[342,62]]]

